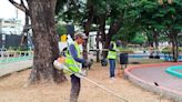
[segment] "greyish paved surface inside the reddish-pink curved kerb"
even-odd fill
[[[168,67],[134,69],[131,72],[142,80],[153,83],[156,82],[159,85],[180,91],[182,93],[182,79],[166,73],[166,68]]]

